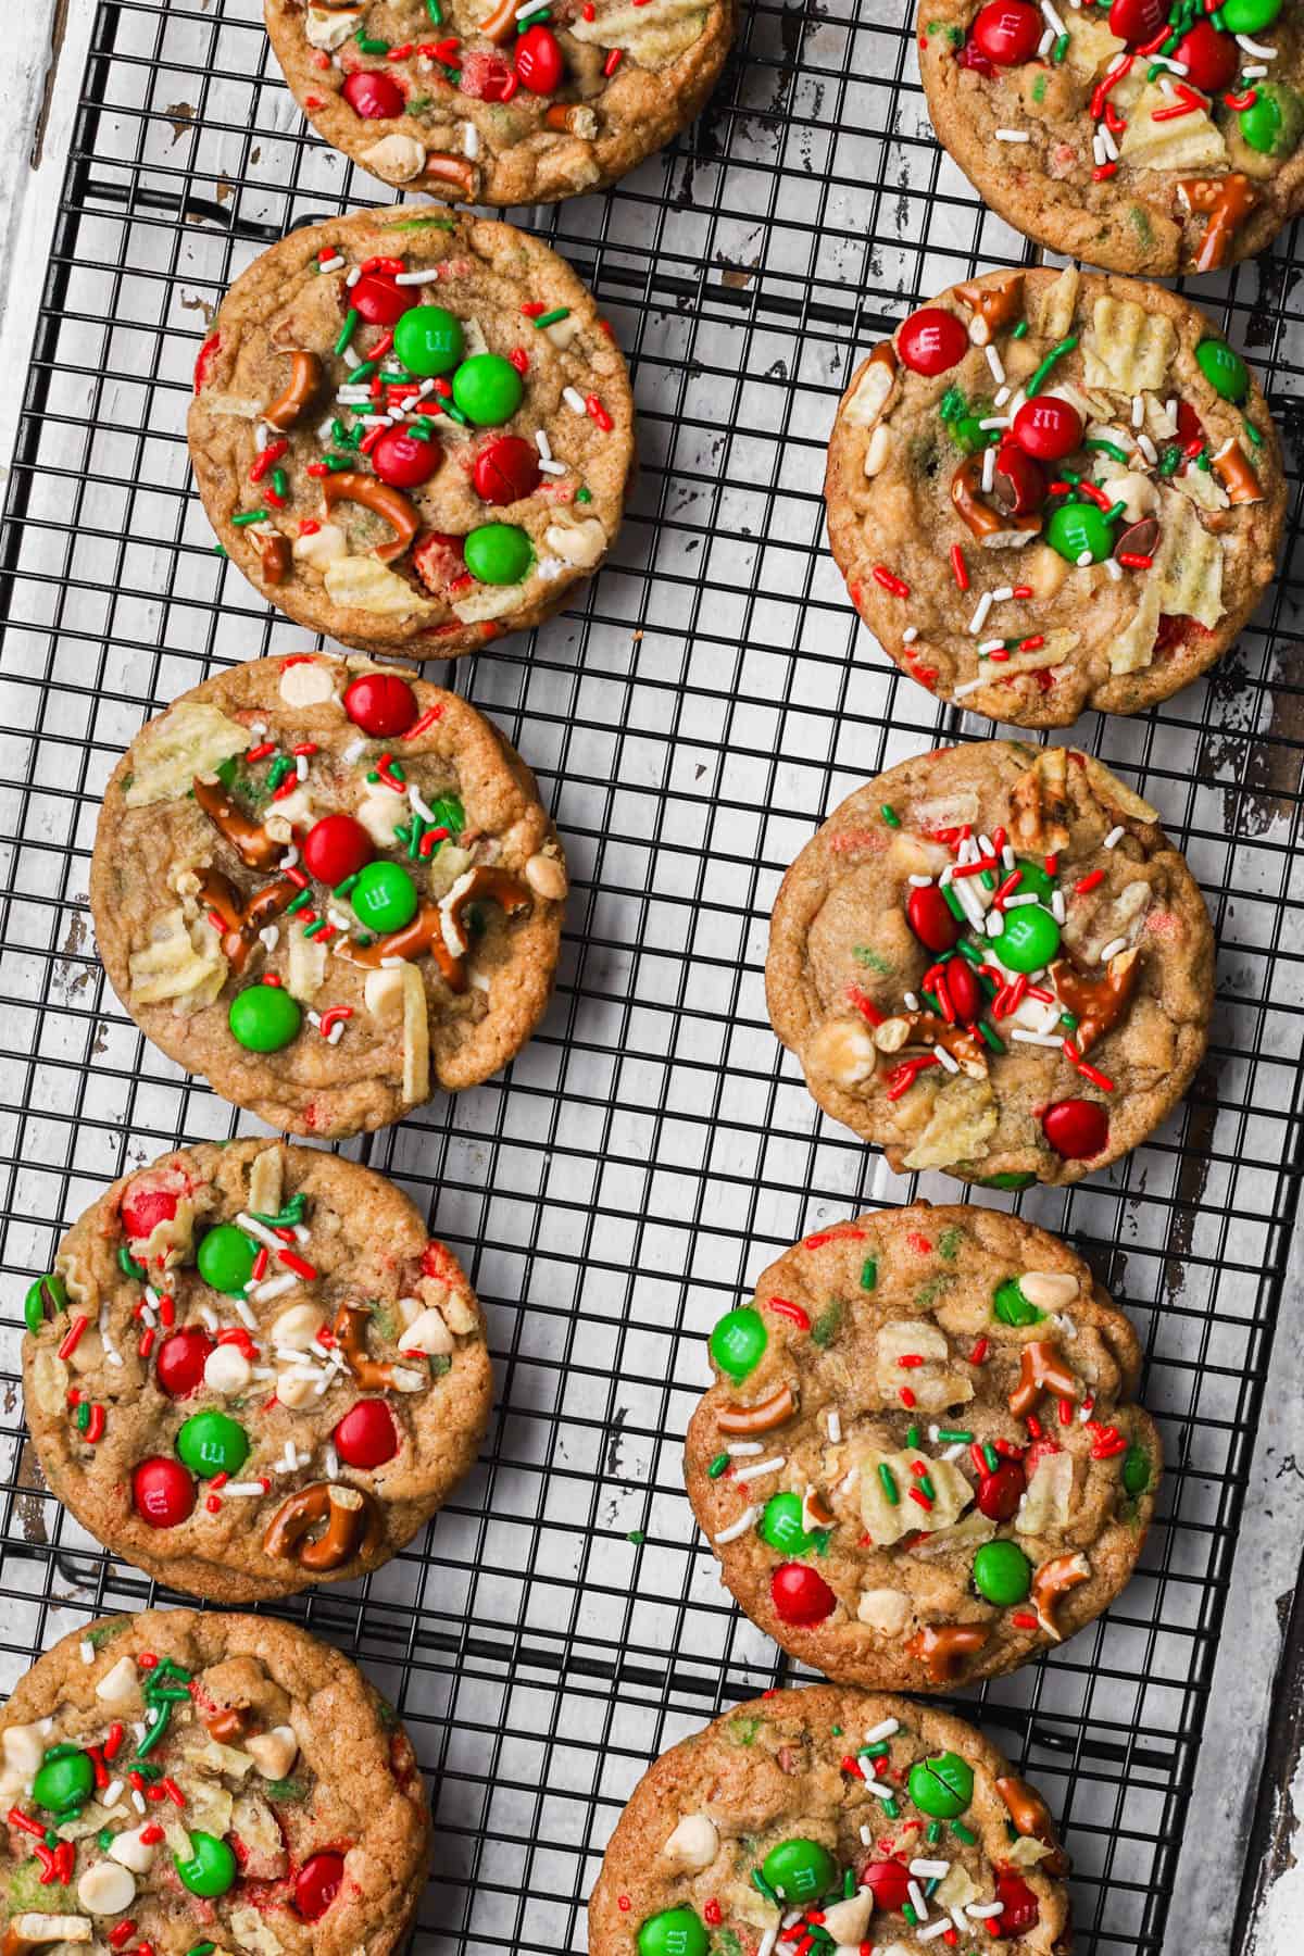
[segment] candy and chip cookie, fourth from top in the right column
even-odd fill
[[[819,1230],[710,1356],[688,1498],[747,1616],[815,1670],[997,1676],[1132,1575],[1159,1475],[1142,1354],[1046,1230],[929,1203]]]

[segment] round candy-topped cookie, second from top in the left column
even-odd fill
[[[512,225],[407,203],[254,260],[188,434],[219,544],[272,604],[414,659],[559,610],[633,471],[626,364],[571,268]]]

